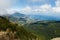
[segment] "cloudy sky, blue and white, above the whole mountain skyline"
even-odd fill
[[[14,12],[60,17],[60,0],[0,0],[0,15]]]

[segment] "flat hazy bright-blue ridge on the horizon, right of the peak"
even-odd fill
[[[31,19],[34,19],[34,20],[38,20],[38,21],[41,21],[41,20],[60,20],[60,18],[58,17],[54,17],[54,16],[45,16],[45,15],[29,15],[29,17]]]

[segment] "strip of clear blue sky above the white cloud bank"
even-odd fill
[[[25,6],[41,6],[44,4],[50,4],[55,6],[56,0],[17,0],[16,4],[13,7],[25,7]]]

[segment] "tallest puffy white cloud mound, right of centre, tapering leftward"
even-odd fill
[[[36,9],[34,9],[34,11],[35,10],[36,12],[39,12],[39,13],[45,13],[45,12],[51,11],[51,5],[48,5],[48,4],[41,5],[37,7]]]

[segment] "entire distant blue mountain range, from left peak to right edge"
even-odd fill
[[[26,23],[33,23],[36,21],[45,21],[45,20],[49,20],[49,21],[59,21],[60,18],[58,17],[53,17],[53,16],[45,16],[45,15],[36,15],[36,14],[22,14],[19,12],[15,12],[11,15],[8,15],[8,18],[10,21],[16,22],[18,24],[26,24]]]

